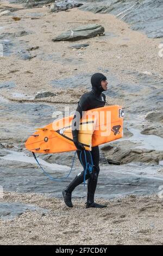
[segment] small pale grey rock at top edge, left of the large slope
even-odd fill
[[[58,11],[66,11],[68,9],[76,8],[82,6],[82,3],[76,3],[71,0],[65,0],[65,1],[55,1],[55,3],[52,3],[50,10],[53,13],[58,13]]]

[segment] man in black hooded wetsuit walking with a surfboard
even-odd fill
[[[79,132],[79,124],[80,119],[83,116],[83,112],[98,108],[98,107],[104,107],[105,105],[105,90],[107,90],[108,82],[106,81],[106,77],[101,73],[93,74],[91,77],[91,84],[92,84],[92,90],[91,92],[85,93],[78,102],[78,107],[76,109],[76,113],[74,114],[74,118],[72,120],[72,127],[74,127],[74,123],[76,123],[76,129],[72,130],[73,135],[73,143],[76,145],[77,148],[77,155],[78,159],[80,161],[80,153],[81,150],[84,150],[84,146],[82,143],[78,141],[78,132]],[[76,118],[78,116],[78,118]],[[86,153],[86,159],[88,162],[91,162],[91,156],[93,160],[93,175],[91,175],[89,172],[86,173],[85,180],[87,181],[87,202],[86,202],[86,208],[104,208],[106,205],[97,204],[94,202],[94,196],[97,186],[97,179],[99,174],[99,148],[98,146],[92,147],[92,150],[89,152],[85,150]],[[85,156],[82,154],[82,162],[84,169],[86,167],[85,163]],[[82,163],[81,162],[81,163]],[[64,189],[62,190],[62,194],[64,197],[65,204],[68,207],[73,207],[71,202],[71,195],[74,188],[76,188],[79,184],[82,184],[84,181],[84,170],[83,172],[79,173],[76,178]]]

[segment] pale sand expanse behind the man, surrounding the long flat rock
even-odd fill
[[[36,57],[27,60],[25,64],[24,60],[15,56],[1,57],[1,81],[14,80],[16,83],[14,89],[1,89],[1,95],[9,99],[14,99],[12,92],[33,97],[40,90],[50,90],[57,93],[57,97],[51,97],[51,102],[77,102],[83,94],[83,88],[65,90],[66,84],[62,84],[59,90],[52,88],[49,81],[85,72],[91,76],[99,71],[100,67],[102,70],[109,70],[110,74],[115,75],[121,82],[136,81],[133,75],[124,74],[123,71],[128,69],[163,75],[162,58],[158,55],[161,39],[148,39],[146,35],[132,31],[129,25],[117,20],[113,15],[93,14],[77,8],[49,13],[47,7],[18,10],[14,14],[21,17],[21,20],[13,21],[12,15],[0,17],[1,26],[4,26],[1,33],[25,30],[32,34],[21,36],[18,40],[23,40],[25,49],[36,46],[39,48],[32,51]],[[41,16],[32,20],[36,14]],[[104,26],[106,36],[77,42],[52,41],[55,36],[68,29],[90,23]],[[111,36],[107,35],[109,33]],[[19,44],[18,41],[17,43]],[[78,43],[90,46],[83,50],[69,48]]]

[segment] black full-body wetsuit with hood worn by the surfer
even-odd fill
[[[72,131],[72,135],[73,135],[74,144],[76,145],[77,148],[78,148],[78,132],[79,132],[78,128],[79,128],[80,118],[82,118],[82,115],[83,115],[82,112],[87,111],[89,109],[93,109],[93,108],[104,107],[105,105],[105,95],[102,93],[103,88],[101,87],[102,80],[106,80],[106,77],[104,75],[100,73],[96,73],[95,75],[93,75],[91,78],[91,83],[92,83],[91,92],[85,93],[78,102],[78,107],[76,109],[76,113],[74,114],[74,118],[72,121],[72,126],[76,125],[76,129]],[[78,120],[76,120],[77,112],[80,113]],[[79,161],[80,161],[80,153],[81,153],[81,150],[77,150]],[[93,164],[95,165],[95,168],[93,170],[94,175],[92,176],[90,175],[89,172],[87,172],[85,177],[86,180],[88,179],[87,202],[89,201],[93,203],[96,186],[97,186],[98,174],[99,174],[99,148],[98,146],[92,147],[91,151],[85,150],[85,153],[86,153],[87,162],[89,163],[91,163],[91,156],[90,156],[90,153],[91,153]],[[85,164],[84,152],[82,152],[82,162],[84,164],[84,169],[85,169],[86,164]],[[83,181],[84,181],[84,170],[83,172],[79,173],[76,176],[76,178],[74,178],[74,180],[70,183],[70,185],[68,185],[68,187],[66,188],[66,192],[71,193],[74,190],[74,188],[79,184],[81,184]]]

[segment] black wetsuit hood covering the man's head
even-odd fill
[[[95,73],[91,77],[92,92],[100,95],[104,89],[101,86],[101,81],[105,81],[107,78],[101,73]]]

